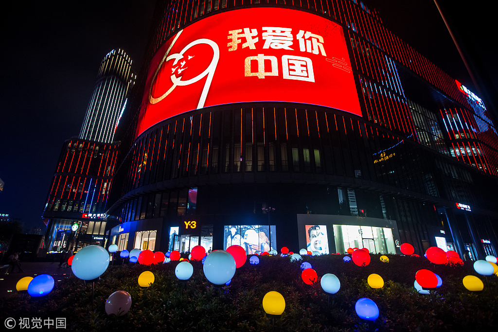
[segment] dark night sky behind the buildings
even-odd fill
[[[155,1],[16,2],[3,12],[1,30],[0,214],[44,231],[62,143],[79,134],[99,65],[123,48],[140,69]],[[477,93],[433,0],[375,2],[388,29]],[[479,31],[474,23],[466,22]],[[483,52],[496,74],[494,48]]]

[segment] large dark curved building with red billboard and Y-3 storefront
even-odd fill
[[[496,253],[484,103],[357,0],[161,1],[108,243]]]

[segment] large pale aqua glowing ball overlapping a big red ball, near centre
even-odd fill
[[[216,250],[204,261],[204,275],[215,285],[225,285],[235,275],[237,265],[234,257],[227,251]]]

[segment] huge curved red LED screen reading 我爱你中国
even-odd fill
[[[186,111],[265,101],[361,116],[342,27],[271,7],[227,11],[187,26],[152,58],[137,135]]]

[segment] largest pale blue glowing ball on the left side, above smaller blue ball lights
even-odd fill
[[[109,266],[109,253],[100,245],[87,245],[74,255],[71,269],[83,280],[100,277]]]

